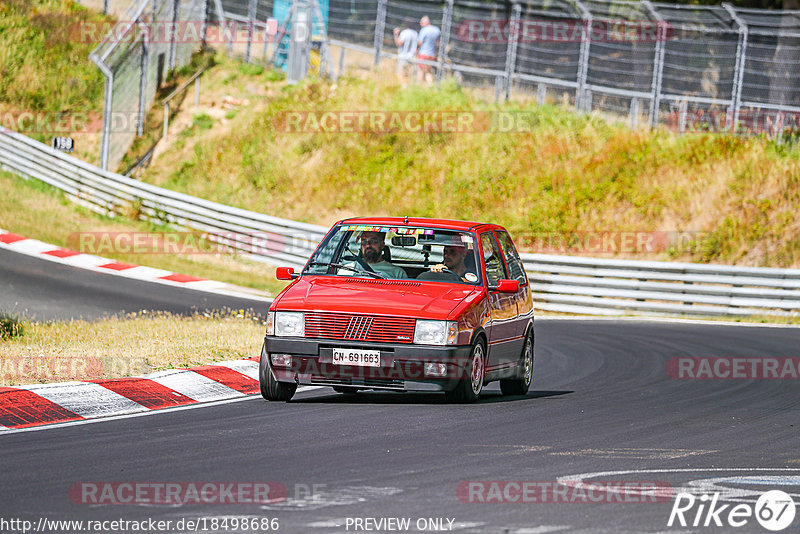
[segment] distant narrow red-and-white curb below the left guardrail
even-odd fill
[[[153,267],[145,267],[143,265],[133,265],[130,263],[123,263],[121,261],[110,260],[102,258],[93,254],[84,254],[76,252],[67,248],[50,245],[39,241],[38,239],[30,239],[25,236],[12,234],[7,230],[0,228],[0,248],[13,250],[20,254],[34,256],[80,269],[95,271],[99,273],[113,274],[116,276],[124,276],[126,278],[134,278],[137,280],[144,280],[147,282],[155,282],[158,284],[166,284],[176,287],[183,287],[186,289],[194,289],[198,291],[205,291],[207,293],[217,293],[231,297],[240,297],[251,300],[258,300],[261,302],[272,302],[272,297],[268,293],[258,291],[255,289],[242,288],[224,282],[217,282],[215,280],[207,280],[205,278],[197,278],[196,276],[189,276],[180,273],[174,273],[164,269],[156,269]]]

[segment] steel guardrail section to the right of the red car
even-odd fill
[[[704,316],[800,310],[800,269],[521,256],[540,310]]]

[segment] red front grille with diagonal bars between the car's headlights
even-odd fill
[[[414,340],[414,323],[414,319],[403,317],[306,312],[306,337],[411,343]]]

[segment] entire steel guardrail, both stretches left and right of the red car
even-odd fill
[[[302,266],[325,228],[195,198],[107,172],[0,127],[0,167],[63,190],[104,215],[138,213],[206,232],[254,257]],[[786,315],[800,269],[523,254],[536,308],[602,315]]]

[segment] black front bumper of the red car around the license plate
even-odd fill
[[[334,348],[380,350],[380,367],[333,363]],[[261,358],[267,358],[279,382],[350,386],[391,391],[451,391],[465,376],[472,347],[337,341],[266,336]],[[272,365],[270,354],[290,354],[291,367]],[[425,374],[426,363],[443,363],[443,377]]]

